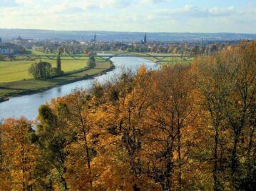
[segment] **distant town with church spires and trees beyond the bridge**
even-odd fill
[[[102,34],[101,34],[102,35]],[[93,53],[96,51],[128,51],[138,53],[173,53],[182,55],[202,55],[220,51],[239,40],[210,41],[201,38],[198,41],[153,41],[148,33],[140,33],[140,41],[103,41],[103,37],[94,33],[91,40],[51,38],[40,40],[38,38],[24,38],[19,35],[11,40],[0,37],[0,55],[11,56],[26,54],[27,50],[34,48],[43,53],[56,53],[58,47],[64,49],[65,54]],[[247,39],[247,38],[245,38]]]

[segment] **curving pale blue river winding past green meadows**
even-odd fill
[[[142,64],[152,70],[159,68],[158,63],[153,63],[152,61],[138,57],[117,57],[111,58],[111,61],[113,61],[116,68],[102,76],[68,83],[63,86],[58,86],[56,88],[51,88],[47,91],[34,93],[28,96],[11,98],[10,100],[0,103],[0,119],[10,117],[19,118],[21,116],[25,116],[29,120],[34,120],[38,114],[37,109],[40,105],[50,101],[51,98],[66,96],[68,93],[71,93],[74,88],[91,88],[93,81],[104,83],[120,74],[123,70],[128,69],[135,72]]]

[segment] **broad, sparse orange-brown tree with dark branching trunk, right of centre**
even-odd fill
[[[193,83],[190,68],[176,65],[163,68],[154,76],[155,97],[147,114],[145,155],[148,155],[146,173],[162,185],[163,190],[174,187],[171,176],[178,166],[178,190],[182,187],[182,165],[185,150],[182,149],[182,129],[192,123]],[[154,149],[152,149],[154,148]],[[182,153],[184,152],[184,153]]]

